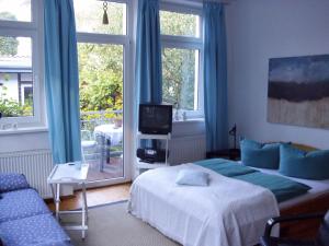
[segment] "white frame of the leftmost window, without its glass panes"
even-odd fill
[[[44,107],[44,31],[43,1],[31,0],[31,22],[0,20],[0,36],[30,37],[32,43],[33,116],[2,117],[0,126],[20,128],[45,127]],[[1,131],[1,128],[0,128]]]

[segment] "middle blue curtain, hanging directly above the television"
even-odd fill
[[[158,0],[138,0],[136,82],[139,103],[162,102],[160,16]]]

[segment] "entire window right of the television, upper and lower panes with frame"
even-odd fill
[[[162,101],[185,112],[188,118],[202,117],[201,13],[173,9],[163,7],[160,11]]]

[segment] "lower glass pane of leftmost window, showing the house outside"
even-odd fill
[[[32,39],[0,36],[0,112],[33,115]]]

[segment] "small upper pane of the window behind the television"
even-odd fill
[[[198,37],[198,16],[160,11],[161,34]]]

